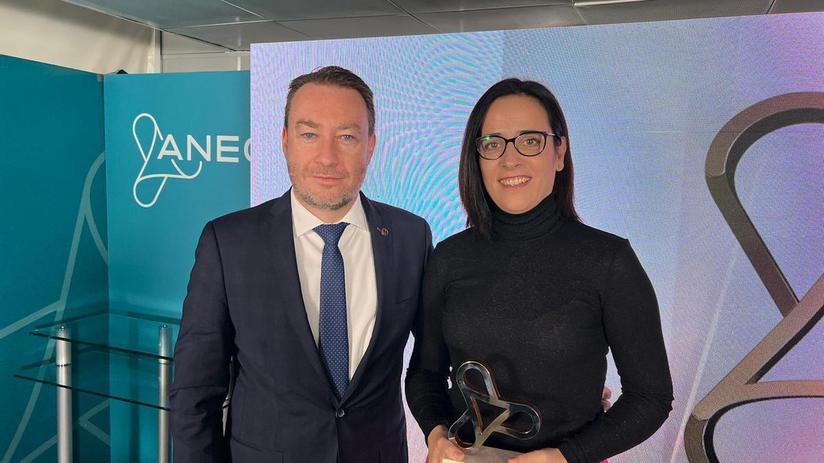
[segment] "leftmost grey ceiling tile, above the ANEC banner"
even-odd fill
[[[199,26],[260,20],[250,12],[233,7],[221,0],[70,0],[82,7],[123,16],[148,26]]]

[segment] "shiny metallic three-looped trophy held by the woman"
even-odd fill
[[[480,375],[484,378],[486,391],[466,382],[466,372],[469,370],[477,370],[480,372]],[[517,451],[485,447],[484,442],[486,442],[486,439],[489,438],[492,433],[502,433],[517,439],[535,437],[538,431],[541,430],[541,413],[532,405],[517,404],[501,399],[492,374],[489,373],[489,368],[483,363],[471,361],[464,363],[458,368],[455,378],[458,388],[460,388],[461,394],[464,396],[464,400],[466,400],[466,411],[449,427],[449,440],[456,446],[461,447],[466,454],[464,463],[506,463],[508,459],[520,455]],[[503,409],[503,412],[492,420],[492,423],[485,425],[480,416],[479,403],[494,405],[495,407]],[[530,429],[510,428],[503,423],[517,413],[527,414],[527,416],[532,419]],[[472,422],[472,428],[475,430],[475,442],[471,444],[461,441],[461,437],[458,437],[458,429],[466,424],[467,421]],[[457,463],[448,458],[444,458],[442,461],[442,463],[452,462]]]

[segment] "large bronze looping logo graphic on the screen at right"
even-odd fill
[[[764,400],[824,398],[824,380],[760,381],[824,317],[824,274],[799,300],[735,190],[735,170],[747,149],[767,133],[811,123],[824,124],[824,93],[775,96],[730,119],[709,147],[709,192],[783,319],[695,405],[684,429],[686,456],[693,463],[719,461],[714,430],[732,409]]]

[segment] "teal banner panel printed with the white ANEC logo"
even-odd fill
[[[105,78],[113,314],[180,320],[204,224],[250,203],[249,73]],[[111,461],[153,461],[157,409],[113,403]]]

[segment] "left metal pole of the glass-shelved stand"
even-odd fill
[[[69,330],[61,326],[57,335],[68,339]],[[72,463],[72,343],[57,339],[55,341],[57,365],[57,461]]]

